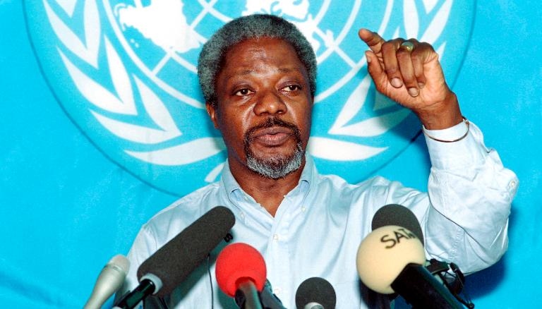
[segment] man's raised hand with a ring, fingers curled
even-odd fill
[[[428,129],[462,121],[457,97],[446,84],[430,44],[401,38],[385,41],[366,29],[358,34],[371,49],[366,52],[368,71],[379,92],[414,111]]]

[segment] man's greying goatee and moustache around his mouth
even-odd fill
[[[251,135],[261,128],[271,128],[272,126],[289,128],[294,136],[296,147],[294,151],[288,155],[258,157],[258,155],[251,150]],[[299,131],[299,128],[293,123],[282,121],[276,117],[268,118],[264,123],[260,123],[259,125],[250,128],[243,138],[243,147],[248,169],[272,179],[284,178],[291,172],[299,169],[299,167],[301,167],[301,162],[303,161],[303,154],[305,153],[301,144],[301,132]]]

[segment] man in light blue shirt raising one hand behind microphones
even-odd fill
[[[124,291],[136,286],[138,265],[217,205],[234,212],[234,242],[249,243],[265,257],[267,279],[287,308],[295,308],[296,289],[309,277],[330,281],[337,308],[389,305],[360,285],[356,250],[373,214],[391,203],[416,214],[428,257],[466,272],[501,257],[517,178],[462,117],[438,55],[416,40],[385,42],[368,30],[359,36],[371,49],[366,57],[377,89],[423,124],[433,165],[429,192],[381,177],[351,185],[319,175],[305,153],[316,75],[310,44],[282,18],[238,18],[212,36],[198,62],[207,111],[227,146],[222,178],[143,226],[128,255]],[[164,300],[169,308],[236,308],[217,288],[214,266],[205,264]]]

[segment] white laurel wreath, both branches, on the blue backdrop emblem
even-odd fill
[[[68,74],[73,80],[81,95],[92,104],[89,109],[92,116],[106,128],[110,133],[128,140],[131,143],[143,145],[159,145],[166,141],[178,138],[182,135],[179,128],[176,126],[174,119],[164,105],[164,102],[135,74],[129,74],[124,66],[124,63],[119,56],[119,53],[109,41],[107,35],[102,34],[100,23],[100,13],[95,0],[79,0],[83,1],[83,6],[78,6],[78,1],[60,1],[57,0],[57,6],[64,9],[67,16],[73,16],[76,8],[83,10],[83,37],[81,40],[76,32],[74,32],[67,23],[57,14],[50,1],[42,0],[44,4],[49,23],[58,37],[61,45],[57,46],[57,50],[61,57]],[[438,40],[444,30],[450,8],[453,0],[445,0],[443,4],[437,6],[438,0],[423,0],[423,8],[425,13],[431,13],[435,8],[438,11],[435,13],[433,20],[428,27],[421,32],[419,20],[422,8],[416,6],[415,0],[404,0],[404,30],[408,37],[420,37],[419,40],[433,43]],[[389,9],[393,6],[394,1],[388,0]],[[419,1],[418,1],[419,3]],[[399,28],[395,30],[399,33]],[[331,40],[331,33],[327,33],[327,40]],[[101,42],[104,43],[104,48],[100,49]],[[107,89],[104,85],[90,78],[88,73],[81,70],[74,61],[70,59],[65,50],[68,49],[80,61],[88,63],[91,68],[97,71],[107,70],[111,77],[113,90]],[[442,55],[445,49],[445,42],[438,47],[437,52]],[[107,59],[107,68],[100,68],[98,58],[100,50],[104,51]],[[365,64],[365,63],[358,63]],[[138,110],[134,101],[134,87],[138,91],[141,98],[142,110]],[[371,78],[367,75],[361,80],[361,83],[351,93],[347,102],[345,102],[337,119],[332,123],[328,133],[330,135],[344,135],[354,138],[366,138],[378,136],[386,133],[391,128],[401,123],[406,116],[410,114],[408,109],[399,109],[391,111],[387,114],[363,119],[355,123],[351,123],[352,119],[359,114],[365,104],[368,90],[371,85]],[[378,99],[378,98],[377,98]],[[375,103],[374,110],[389,107],[393,102],[384,99],[378,99]],[[133,123],[127,123],[119,119],[113,119],[111,116],[106,116],[103,111],[107,111],[108,115],[128,115],[137,119],[138,116],[148,116],[155,123],[156,127],[140,126]],[[126,119],[126,118],[123,118]],[[198,162],[207,157],[212,157],[225,149],[221,138],[198,138],[180,145],[168,146],[157,150],[147,152],[138,152],[134,150],[124,151],[136,159],[151,164],[176,166],[191,164]],[[337,151],[340,149],[341,151]],[[359,143],[351,143],[334,138],[323,138],[313,136],[308,145],[308,151],[315,157],[322,159],[331,159],[335,161],[354,161],[373,157],[380,152],[383,152],[387,147],[371,147],[361,145]],[[205,177],[205,181],[214,181],[222,164],[215,166]]]

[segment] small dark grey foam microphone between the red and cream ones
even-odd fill
[[[297,309],[335,309],[335,303],[335,289],[326,279],[308,278],[297,288]]]

